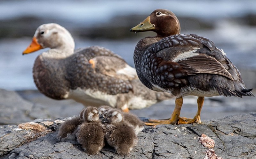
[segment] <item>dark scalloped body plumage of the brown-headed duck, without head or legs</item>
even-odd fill
[[[154,85],[157,85],[176,97],[193,95],[188,90],[213,89],[218,92],[212,96],[244,95],[242,90],[245,87],[239,70],[211,40],[195,34],[178,34],[159,40],[145,52],[140,52],[137,47],[134,52],[135,67],[141,82],[150,89],[154,90]],[[173,61],[185,51],[193,51],[196,55]],[[220,81],[225,83],[224,86],[220,86]]]

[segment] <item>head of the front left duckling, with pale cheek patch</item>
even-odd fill
[[[97,108],[89,106],[84,110],[84,121],[95,122],[99,119],[100,115]]]

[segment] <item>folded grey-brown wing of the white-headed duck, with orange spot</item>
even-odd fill
[[[79,87],[111,95],[132,90],[130,79],[119,75],[120,70],[124,69],[124,64],[128,64],[104,47],[81,48],[76,50],[68,61],[66,79],[70,82],[72,90]],[[123,67],[120,67],[119,63],[124,63]]]

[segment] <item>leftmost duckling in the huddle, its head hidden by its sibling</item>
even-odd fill
[[[65,140],[75,140],[74,132],[76,131],[76,128],[83,122],[84,119],[80,118],[80,116],[76,116],[62,123],[57,135],[58,140],[61,142]]]

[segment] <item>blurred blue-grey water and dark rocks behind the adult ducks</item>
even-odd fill
[[[22,51],[30,44],[36,28],[44,23],[58,23],[67,28],[76,48],[103,46],[134,66],[136,43],[154,33],[134,34],[129,29],[157,8],[176,14],[181,33],[205,36],[224,49],[238,69],[255,70],[255,6],[255,0],[1,0],[0,88],[36,90],[32,67],[36,56],[48,48],[23,56]],[[244,77],[245,83],[255,79],[252,77]],[[250,83],[248,88],[252,86]]]

